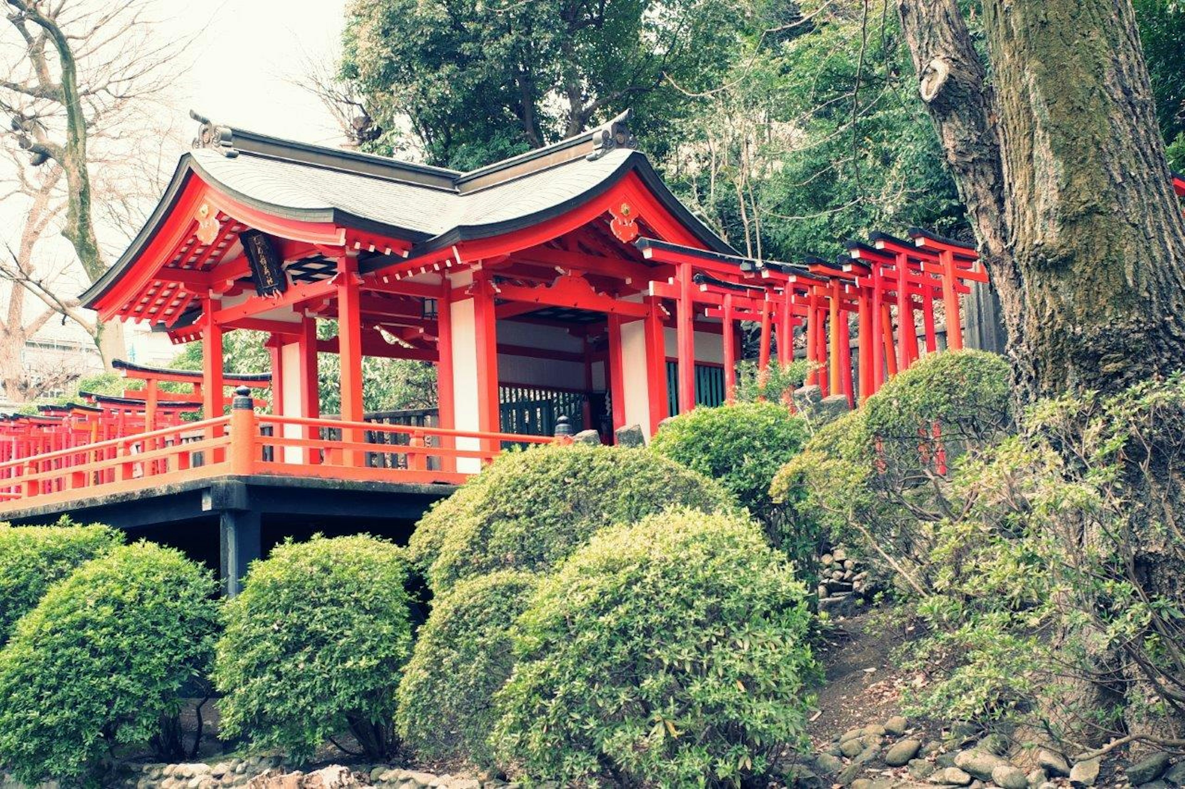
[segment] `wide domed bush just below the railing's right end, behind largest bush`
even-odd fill
[[[544,445],[499,457],[436,505],[411,550],[441,595],[497,570],[547,570],[600,528],[678,506],[735,507],[716,482],[646,449]]]

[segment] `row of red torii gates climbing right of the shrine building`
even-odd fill
[[[788,364],[794,331],[801,327],[806,358],[813,363],[807,383],[818,384],[825,396],[843,394],[854,405],[857,394],[860,399],[873,394],[889,377],[912,365],[923,348],[936,352],[941,334],[947,347],[961,348],[959,297],[971,293],[971,283],[987,282],[987,272],[969,245],[921,229],[911,229],[908,239],[872,233],[867,242],[853,240],[845,246],[846,255],[835,262],[807,257],[789,263],[724,256],[653,239],[639,242],[647,259],[673,264],[680,271],[667,283],[652,283],[652,296],[690,301],[706,317],[722,321],[728,397],[736,385],[735,322],[752,321],[761,326],[758,368],[769,364],[775,334],[777,360]],[[936,321],[939,310],[944,332]],[[924,345],[918,342],[920,333]]]

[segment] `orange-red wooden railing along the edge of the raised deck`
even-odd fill
[[[406,444],[395,441],[401,436]],[[459,483],[491,462],[505,443],[552,441],[549,436],[268,416],[237,408],[214,419],[4,460],[0,512],[223,475]],[[384,455],[387,466],[369,463],[373,454]]]

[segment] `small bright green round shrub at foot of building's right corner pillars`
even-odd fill
[[[769,483],[802,449],[806,423],[769,402],[698,408],[662,424],[651,449],[717,480],[756,518],[771,515]]]

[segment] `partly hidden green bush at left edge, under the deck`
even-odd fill
[[[0,644],[46,589],[122,543],[123,533],[114,528],[65,519],[57,526],[0,524]]]

